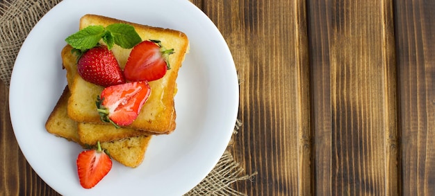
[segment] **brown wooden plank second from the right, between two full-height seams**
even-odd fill
[[[397,195],[392,1],[308,1],[315,195]]]

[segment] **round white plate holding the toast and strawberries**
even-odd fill
[[[177,129],[151,139],[144,162],[113,169],[94,188],[80,186],[79,145],[49,134],[44,123],[67,84],[60,68],[65,37],[87,13],[181,30],[190,39],[177,79]],[[24,42],[10,83],[10,118],[28,163],[62,195],[182,195],[222,156],[238,112],[238,79],[213,22],[187,0],[65,0],[44,15]]]

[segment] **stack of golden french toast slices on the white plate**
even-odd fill
[[[178,30],[133,24],[100,15],[81,17],[79,30],[87,26],[108,26],[117,23],[133,26],[142,40],[157,39],[166,48],[174,48],[174,53],[169,58],[170,69],[163,78],[149,82],[151,94],[136,120],[124,127],[115,127],[101,121],[95,102],[104,87],[81,78],[77,73],[79,56],[72,52],[72,46],[67,44],[61,51],[67,87],[51,112],[45,127],[49,133],[74,141],[83,148],[99,142],[101,148],[108,150],[113,159],[124,166],[136,168],[142,163],[152,136],[170,134],[175,130],[176,80],[184,57],[188,53],[189,41],[188,37]],[[121,69],[124,69],[131,49],[115,45],[111,51]]]

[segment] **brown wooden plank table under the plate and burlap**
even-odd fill
[[[435,1],[192,0],[227,40],[247,195],[435,195]],[[213,46],[211,46],[213,47]],[[0,195],[57,195],[0,85]]]

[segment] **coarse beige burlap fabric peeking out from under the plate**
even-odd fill
[[[60,0],[0,0],[0,79],[9,87],[15,58],[38,20]],[[240,122],[236,125],[236,129]],[[251,176],[225,151],[215,168],[186,195],[245,195],[231,188]]]

